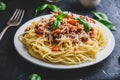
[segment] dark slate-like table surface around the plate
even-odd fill
[[[7,4],[5,11],[0,11],[0,32],[6,26],[16,8],[25,9],[25,16],[21,23],[36,17],[34,10],[45,0],[3,0]],[[33,73],[41,75],[42,80],[120,80],[120,0],[102,0],[101,4],[94,9],[85,9],[79,0],[63,0],[56,3],[62,10],[77,14],[92,16],[90,11],[101,11],[108,15],[115,24],[117,31],[112,32],[116,44],[111,55],[102,62],[93,66],[72,69],[55,70],[47,69],[30,63],[23,59],[15,50],[13,38],[18,27],[9,28],[0,41],[0,80],[28,80]],[[49,10],[41,12],[37,16],[49,14]]]

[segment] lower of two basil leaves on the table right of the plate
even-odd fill
[[[101,22],[102,24],[104,24],[106,27],[108,27],[112,31],[116,30],[114,24],[111,21],[107,21],[104,19],[98,19],[97,21]]]

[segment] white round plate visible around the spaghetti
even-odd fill
[[[111,33],[111,31],[106,28],[104,25],[102,25],[101,23],[97,22],[97,24],[102,27],[105,31],[106,34],[108,35],[108,44],[107,47],[100,51],[97,56],[96,56],[96,61],[95,62],[87,62],[87,63],[83,63],[83,64],[79,64],[79,65],[60,65],[60,64],[51,64],[51,63],[46,63],[44,61],[38,60],[32,56],[29,55],[29,53],[27,52],[27,50],[24,48],[24,45],[20,42],[20,40],[18,39],[18,36],[22,33],[24,33],[24,30],[26,27],[28,27],[29,25],[31,25],[32,22],[34,21],[39,21],[41,18],[45,18],[48,19],[50,18],[50,15],[44,15],[44,16],[40,16],[37,18],[34,18],[32,20],[29,20],[28,22],[26,22],[25,24],[23,24],[16,32],[15,36],[14,36],[14,46],[16,48],[16,50],[18,51],[18,53],[25,58],[26,60],[37,64],[39,66],[43,66],[43,67],[47,67],[47,68],[54,68],[54,69],[73,69],[73,68],[82,68],[82,67],[86,67],[86,66],[90,66],[93,64],[96,64],[102,60],[104,60],[105,58],[107,58],[111,52],[114,49],[115,46],[115,39],[113,34]]]

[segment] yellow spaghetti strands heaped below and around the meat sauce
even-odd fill
[[[93,38],[74,44],[69,37],[62,34],[57,43],[60,50],[53,51],[51,49],[56,44],[50,42],[44,34],[42,36],[36,35],[35,29],[39,23],[31,23],[27,30],[19,36],[19,39],[31,56],[48,63],[75,65],[95,61],[97,53],[107,45],[105,31],[99,26],[91,26],[94,29]]]

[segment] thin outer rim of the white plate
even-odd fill
[[[112,51],[114,50],[114,47],[115,47],[115,38],[114,38],[112,32],[111,32],[107,27],[105,27],[103,24],[101,24],[100,22],[96,21],[97,24],[99,24],[99,25],[101,25],[101,26],[104,26],[104,29],[106,29],[106,30],[110,33],[110,35],[111,35],[111,37],[112,37],[112,39],[113,39],[112,49],[109,51],[108,55],[105,56],[103,59],[101,59],[101,60],[99,60],[99,61],[94,61],[94,62],[88,62],[88,63],[86,62],[86,63],[84,63],[84,64],[86,64],[86,65],[84,65],[84,64],[82,63],[82,64],[78,64],[78,65],[67,65],[67,66],[61,65],[61,67],[57,67],[57,66],[60,66],[60,65],[59,65],[59,64],[52,64],[52,63],[44,62],[44,61],[42,61],[42,60],[39,60],[39,59],[37,59],[37,58],[32,57],[32,56],[27,52],[27,54],[32,57],[32,59],[30,60],[28,57],[26,57],[25,55],[21,54],[21,52],[20,52],[19,49],[17,48],[17,44],[18,44],[18,43],[16,43],[16,41],[17,41],[17,42],[20,42],[19,39],[18,39],[19,31],[20,31],[22,28],[25,29],[25,28],[27,27],[27,26],[25,26],[26,24],[31,24],[31,22],[34,22],[34,20],[37,20],[37,19],[40,20],[40,18],[47,17],[47,16],[50,17],[50,16],[52,16],[52,14],[47,14],[47,15],[42,15],[42,16],[38,16],[38,17],[32,18],[32,19],[26,21],[25,23],[23,23],[23,24],[17,29],[17,31],[15,32],[15,35],[14,35],[14,47],[15,47],[16,51],[18,52],[18,54],[19,54],[22,58],[24,58],[25,60],[27,60],[27,61],[35,64],[35,65],[42,66],[42,67],[46,67],[46,68],[51,68],[51,69],[75,69],[75,68],[83,68],[83,67],[88,67],[88,66],[92,66],[92,65],[94,65],[94,64],[97,64],[97,63],[105,60],[105,59],[112,53]],[[38,20],[37,20],[37,21],[38,21]],[[21,34],[22,34],[22,33],[21,33]],[[22,42],[20,42],[20,44],[22,44]],[[23,44],[22,44],[22,45],[23,45]],[[27,51],[27,50],[26,50],[26,51]],[[98,54],[98,53],[97,53],[97,54]],[[33,60],[37,60],[37,61],[43,62],[43,63],[45,63],[45,64],[40,64],[40,63],[38,63],[38,62],[36,63],[36,62],[33,61]],[[46,64],[48,64],[48,65],[46,65]],[[54,66],[53,66],[53,65],[54,65]],[[56,65],[57,65],[57,66],[56,66]],[[80,65],[82,65],[82,66],[80,66]],[[64,66],[64,67],[63,67],[63,66]]]

